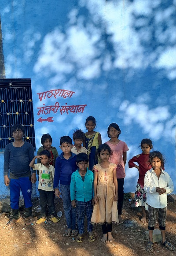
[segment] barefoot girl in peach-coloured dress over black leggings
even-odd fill
[[[108,160],[112,151],[107,144],[102,144],[96,150],[96,159],[100,162],[93,168],[94,170],[94,209],[91,223],[102,225],[103,237],[101,241],[112,242],[112,223],[118,223],[117,213],[117,178],[114,163]]]

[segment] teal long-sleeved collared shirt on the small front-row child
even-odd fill
[[[94,197],[93,194],[93,172],[88,170],[84,176],[84,181],[79,174],[79,168],[73,172],[70,183],[70,197],[71,200],[78,200],[88,202]]]

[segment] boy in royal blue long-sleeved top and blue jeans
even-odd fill
[[[64,236],[66,237],[70,237],[70,235],[74,237],[78,234],[76,229],[76,208],[72,206],[70,200],[71,174],[77,169],[77,155],[71,152],[72,147],[72,139],[69,136],[60,137],[60,148],[62,153],[55,161],[55,177],[53,184],[55,196],[60,198],[60,194],[62,195],[63,209],[67,224],[67,229],[64,232]],[[58,189],[59,181],[61,193]]]

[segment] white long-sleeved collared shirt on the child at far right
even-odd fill
[[[159,195],[156,188],[165,188],[166,192]],[[154,208],[165,208],[167,206],[167,194],[173,191],[173,182],[169,174],[161,168],[158,179],[153,169],[146,172],[144,178],[144,190],[147,192],[147,204]]]

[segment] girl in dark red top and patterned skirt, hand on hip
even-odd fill
[[[139,171],[139,179],[136,186],[136,193],[135,193],[135,206],[141,206],[143,211],[143,216],[141,221],[146,223],[146,192],[143,189],[144,186],[144,177],[148,170],[151,169],[151,164],[149,162],[149,153],[150,150],[153,148],[152,141],[150,139],[143,139],[140,143],[140,147],[142,149],[142,154],[137,156],[133,156],[132,159],[129,160],[128,166],[129,168],[136,167]],[[138,163],[138,165],[135,164]]]

